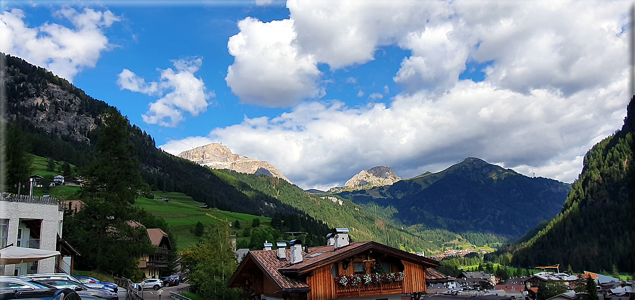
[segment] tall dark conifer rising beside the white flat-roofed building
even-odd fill
[[[93,161],[86,167],[86,184],[79,192],[85,205],[64,219],[64,236],[82,255],[76,265],[114,275],[132,276],[137,258],[152,251],[142,226],[131,226],[138,218],[132,206],[140,191],[149,190],[131,155],[128,119],[115,108],[104,113],[98,131]]]

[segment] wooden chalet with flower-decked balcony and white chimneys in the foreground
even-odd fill
[[[291,249],[265,244],[246,254],[227,285],[250,300],[401,300],[401,294],[418,299],[425,292],[426,270],[438,261],[372,241],[349,244],[347,233],[338,228],[321,247],[302,248],[299,240]]]

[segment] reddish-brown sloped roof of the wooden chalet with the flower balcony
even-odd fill
[[[287,260],[284,261],[280,261],[280,259],[277,258],[276,250],[260,250],[248,252],[247,256],[243,259],[243,262],[238,266],[237,270],[234,271],[234,275],[232,275],[228,285],[230,287],[233,286],[233,282],[236,279],[237,274],[243,272],[242,269],[247,264],[247,261],[253,259],[253,261],[255,261],[255,263],[261,268],[263,273],[269,274],[269,276],[276,281],[276,284],[279,285],[283,292],[309,291],[309,285],[302,280],[296,279],[295,277],[305,275],[306,273],[326,264],[334,263],[336,261],[340,261],[341,259],[349,258],[350,256],[354,256],[371,249],[391,254],[392,256],[396,256],[397,258],[405,261],[424,264],[429,267],[439,266],[439,262],[433,259],[411,254],[372,241],[354,242],[337,250],[332,245],[312,247],[308,249],[308,253],[302,253],[303,260],[297,264],[291,264],[290,261],[288,261],[288,258],[291,257],[290,249],[286,250]],[[438,276],[438,274],[441,273],[434,273],[435,276]],[[289,277],[289,275],[291,275],[291,277]],[[445,275],[443,276],[445,277]]]

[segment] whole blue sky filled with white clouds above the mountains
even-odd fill
[[[302,188],[466,157],[572,182],[629,101],[629,1],[158,3],[3,1],[0,51]]]

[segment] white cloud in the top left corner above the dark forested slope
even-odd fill
[[[72,81],[84,68],[95,67],[102,51],[112,48],[104,29],[122,18],[109,10],[84,8],[80,13],[68,6],[54,15],[67,18],[74,28],[57,23],[29,27],[23,20],[26,15],[22,10],[3,11],[0,14],[0,51],[19,56]]]

